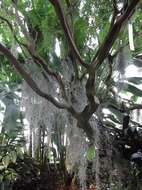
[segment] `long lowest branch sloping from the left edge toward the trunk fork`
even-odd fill
[[[70,109],[70,107],[66,104],[62,104],[58,102],[55,98],[51,95],[46,94],[45,92],[41,91],[35,81],[30,77],[30,75],[21,67],[20,63],[17,59],[11,54],[11,52],[4,47],[0,43],[0,52],[2,52],[6,58],[10,61],[10,63],[14,66],[16,71],[22,76],[22,78],[27,82],[27,84],[32,88],[34,92],[36,92],[39,96],[47,99],[51,103],[53,103],[56,107],[60,109]]]

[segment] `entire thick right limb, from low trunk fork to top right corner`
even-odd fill
[[[114,10],[112,22],[110,25],[109,32],[103,42],[103,44],[98,49],[88,71],[89,71],[89,78],[86,83],[86,95],[89,101],[89,104],[85,107],[82,114],[83,115],[90,115],[90,113],[93,113],[94,110],[97,109],[97,104],[94,100],[94,82],[95,82],[95,69],[93,69],[96,66],[100,66],[104,59],[106,59],[109,56],[109,51],[114,44],[115,40],[117,39],[117,36],[120,32],[120,29],[124,22],[131,16],[132,11],[138,4],[139,0],[132,1],[132,3],[129,5],[129,7],[126,9],[124,14],[116,21],[116,11]],[[116,8],[115,8],[116,9]],[[110,60],[109,60],[110,61]],[[110,68],[110,75],[112,69]],[[110,80],[111,76],[108,76],[107,80]]]

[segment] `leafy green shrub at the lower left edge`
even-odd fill
[[[16,164],[17,158],[23,158],[23,147],[25,140],[21,135],[0,134],[0,180],[14,181],[17,177],[17,171],[11,167]]]

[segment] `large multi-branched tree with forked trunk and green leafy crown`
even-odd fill
[[[122,71],[123,49],[130,43],[128,22],[134,25],[134,40],[139,40],[140,0],[6,0],[0,1],[0,6],[0,52],[2,59],[8,60],[2,67],[10,64],[37,95],[71,114],[90,144],[96,140],[95,133],[102,133],[99,141],[103,141],[103,131],[96,132],[92,116],[93,122],[102,123],[102,109],[109,98],[116,97],[112,88],[116,57],[121,57]],[[134,56],[140,53],[137,44]],[[34,80],[32,65],[44,79],[54,80],[58,97],[56,91],[43,91]],[[142,106],[124,110],[137,108]],[[122,106],[118,109],[121,111]],[[105,188],[100,186],[101,190]]]

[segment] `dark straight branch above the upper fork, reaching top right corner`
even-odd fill
[[[133,0],[131,1],[130,5],[126,9],[126,11],[123,13],[123,15],[119,16],[119,18],[116,20],[116,22],[111,26],[103,44],[98,49],[95,57],[92,60],[92,65],[95,64],[95,66],[100,66],[104,59],[108,56],[109,51],[114,44],[115,40],[117,39],[117,36],[122,28],[122,25],[129,19],[129,17],[132,15],[132,13],[135,10],[135,7],[140,2],[140,0]]]

